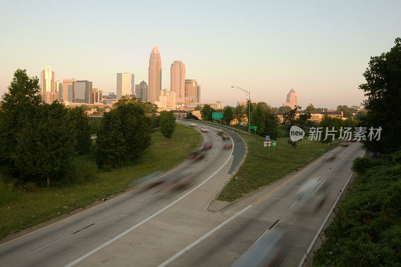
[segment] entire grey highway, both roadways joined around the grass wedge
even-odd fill
[[[152,190],[133,189],[46,228],[40,225],[29,235],[4,239],[0,264],[300,265],[352,175],[352,160],[363,154],[360,145],[339,146],[221,211],[212,211],[209,205],[238,165],[244,144],[226,131],[234,140],[234,149],[223,149],[221,137],[212,126],[206,127],[211,131],[203,133],[204,138],[213,143],[208,155],[171,172],[196,173],[183,188],[170,190],[166,184]],[[310,179],[327,181],[327,194],[316,209],[310,208],[307,195],[299,193]],[[10,241],[19,236],[23,237]]]

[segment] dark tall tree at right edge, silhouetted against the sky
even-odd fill
[[[391,153],[401,147],[401,38],[396,38],[394,43],[389,52],[370,58],[363,73],[366,83],[359,85],[367,97],[361,126],[367,127],[368,132],[370,127],[382,129],[380,140],[376,137],[362,141],[368,151]]]

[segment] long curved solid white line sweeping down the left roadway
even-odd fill
[[[224,166],[226,166],[227,162],[230,161],[231,157],[233,157],[232,153],[234,151],[234,145],[233,145],[233,149],[230,153],[230,156],[228,157],[228,159],[226,160],[226,162],[217,170],[215,171],[211,176],[209,176],[205,181],[203,181],[202,183],[198,184],[197,186],[195,186],[194,188],[192,188],[191,190],[189,190],[188,192],[186,192],[185,194],[183,194],[181,197],[177,198],[176,200],[174,200],[173,202],[171,202],[170,204],[168,204],[167,206],[165,206],[164,208],[160,209],[159,211],[157,211],[156,213],[154,213],[153,215],[147,217],[146,219],[142,220],[141,222],[135,224],[134,226],[132,226],[131,228],[129,228],[128,230],[123,231],[122,233],[120,233],[119,235],[113,237],[112,239],[110,239],[109,241],[105,242],[104,244],[96,247],[95,249],[93,249],[92,251],[89,251],[88,253],[86,253],[85,255],[77,258],[76,260],[74,260],[73,262],[65,265],[65,267],[70,267],[73,266],[75,264],[77,264],[78,262],[80,262],[81,260],[83,260],[84,258],[92,255],[93,253],[95,253],[96,251],[100,250],[101,248],[105,247],[106,245],[114,242],[115,240],[117,240],[118,238],[124,236],[125,234],[129,233],[130,231],[132,231],[133,229],[137,228],[138,226],[142,225],[143,223],[147,222],[148,220],[150,220],[151,218],[157,216],[158,214],[160,214],[161,212],[163,212],[164,210],[166,210],[167,208],[171,207],[172,205],[174,205],[175,203],[177,203],[178,201],[180,201],[182,198],[184,198],[185,196],[189,195],[190,193],[192,193],[193,191],[195,191],[197,188],[199,188],[200,186],[204,185],[207,181],[209,181],[213,176],[216,175],[216,173],[218,173],[221,169],[223,169]]]

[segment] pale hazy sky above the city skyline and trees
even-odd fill
[[[291,88],[302,107],[359,105],[370,56],[401,36],[401,1],[7,1],[0,10],[0,94],[18,68],[51,66],[116,92],[116,73],[148,82],[160,50],[162,88],[181,60],[202,102],[281,106]]]

